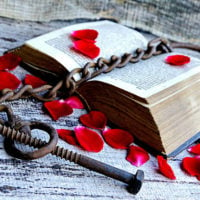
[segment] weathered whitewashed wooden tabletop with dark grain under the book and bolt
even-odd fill
[[[23,44],[27,39],[68,24],[70,22],[67,21],[37,23],[0,18],[0,55],[8,49]],[[23,77],[26,72],[18,68],[14,73]],[[41,120],[54,128],[73,129],[79,124],[78,116],[86,112],[75,110],[69,117],[62,117],[55,122],[42,110],[42,102],[35,99],[17,100],[5,104],[11,105],[14,112],[23,119]],[[35,134],[39,135],[38,132]],[[44,135],[39,136],[46,138]],[[59,145],[131,173],[137,170],[125,160],[124,150],[115,150],[105,145],[101,153],[95,154],[81,151],[61,140]],[[25,146],[20,148],[27,150]],[[197,200],[200,196],[200,182],[195,177],[188,176],[180,167],[181,160],[185,156],[191,155],[184,151],[169,161],[177,176],[177,180],[174,181],[158,172],[156,159],[151,156],[150,161],[139,168],[145,172],[145,182],[141,191],[133,196],[126,191],[125,184],[55,156],[47,155],[33,161],[12,158],[5,153],[3,137],[0,136],[0,199]]]

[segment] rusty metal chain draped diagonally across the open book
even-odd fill
[[[125,53],[121,57],[113,55],[109,60],[99,58],[97,62],[88,62],[83,68],[72,70],[64,80],[59,81],[55,86],[44,85],[33,89],[31,85],[25,85],[21,89],[15,91],[7,88],[3,89],[0,94],[0,102],[27,98],[29,96],[33,96],[41,101],[51,101],[57,98],[58,91],[63,87],[65,88],[65,94],[70,96],[83,82],[102,73],[108,73],[114,68],[122,68],[128,63],[136,63],[140,60],[146,60],[152,56],[171,51],[172,48],[167,40],[156,38],[148,43],[147,49],[145,50],[138,48],[133,54]],[[73,78],[76,74],[79,74],[81,77],[78,81],[75,81]]]

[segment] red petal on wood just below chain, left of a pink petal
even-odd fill
[[[59,117],[70,115],[73,112],[73,109],[65,103],[64,100],[45,102],[44,107],[54,120],[57,120]]]

